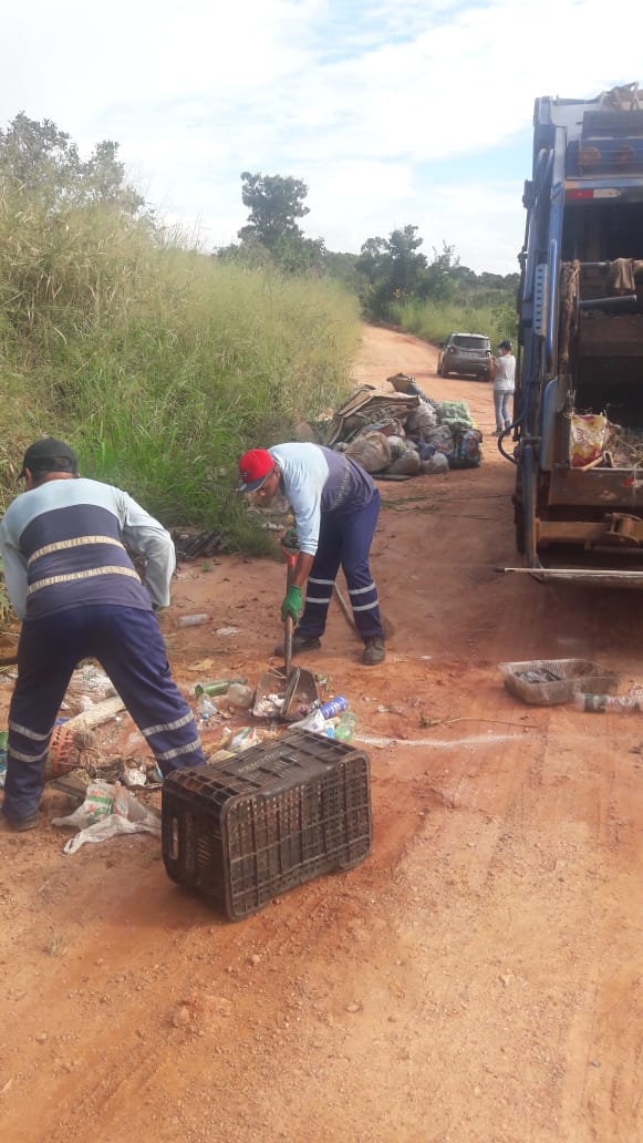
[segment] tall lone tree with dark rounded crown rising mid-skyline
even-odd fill
[[[295,219],[311,211],[304,206],[308,187],[300,178],[244,170],[241,179],[243,206],[250,208],[248,225],[239,231],[242,242],[258,241],[275,250],[284,239],[303,239]]]

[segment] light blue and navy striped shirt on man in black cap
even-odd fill
[[[145,562],[145,588],[127,553]],[[176,566],[168,531],[127,493],[85,478],[47,480],[0,525],[7,593],[18,618],[113,604],[167,607]]]

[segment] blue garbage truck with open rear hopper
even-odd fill
[[[541,581],[643,588],[643,93],[536,99],[519,255],[515,538]]]

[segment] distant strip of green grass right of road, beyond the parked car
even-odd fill
[[[419,299],[394,303],[391,317],[402,329],[436,345],[444,342],[453,330],[487,334],[492,344],[498,344],[504,337],[514,339],[517,333],[515,305],[503,295],[491,305],[461,302],[437,305]]]

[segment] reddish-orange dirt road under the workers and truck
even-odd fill
[[[2,1138],[643,1138],[642,724],[522,705],[498,671],[588,657],[626,689],[641,597],[497,575],[516,557],[490,389],[367,330],[356,379],[397,370],[469,402],[485,461],[380,483],[387,661],[359,665],[339,612],[306,661],[359,714],[372,856],[233,925],[168,880],[150,837],[72,857],[53,828],[2,838]],[[282,583],[270,560],[184,566],[163,620],[177,679],[209,658],[256,681]],[[200,610],[214,623],[176,626]],[[135,752],[131,724],[110,734]],[[66,808],[46,796],[48,818]]]

